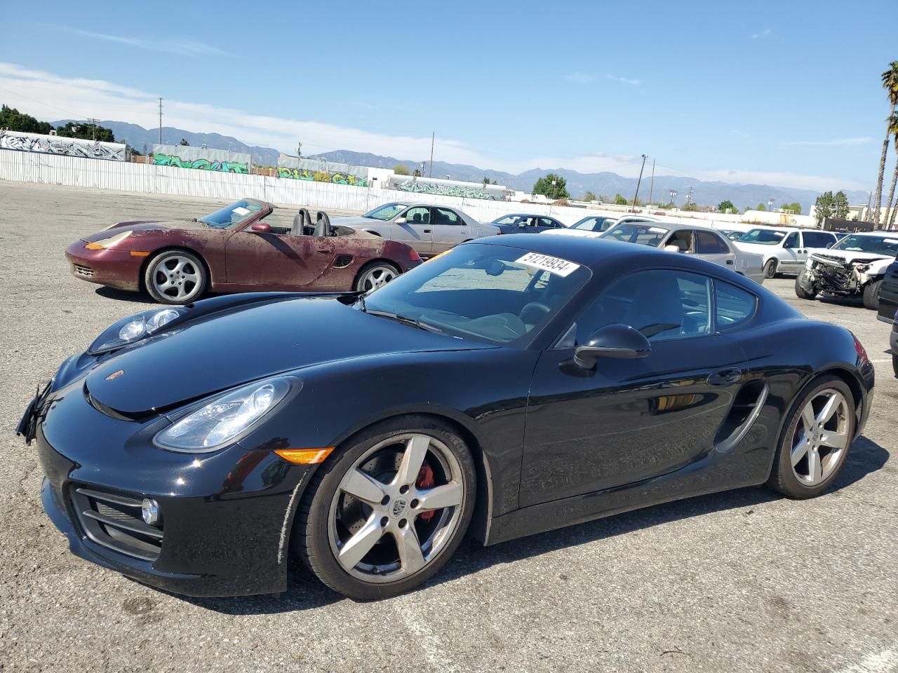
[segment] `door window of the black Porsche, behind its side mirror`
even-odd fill
[[[621,322],[649,341],[709,334],[711,281],[684,271],[652,269],[609,285],[577,319],[577,344],[593,332]]]

